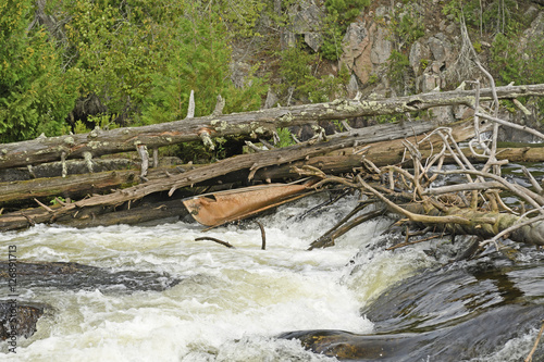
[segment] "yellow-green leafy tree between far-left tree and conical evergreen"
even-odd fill
[[[137,1],[77,0],[69,5],[66,66],[78,75],[81,97],[97,95],[110,114],[138,108],[150,91],[151,75],[160,71],[166,33]],[[171,11],[173,16],[182,9]]]

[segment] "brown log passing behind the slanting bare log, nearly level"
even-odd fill
[[[457,141],[462,141],[465,138],[457,138]],[[423,145],[424,146],[424,145]],[[259,168],[254,176],[256,182],[281,182],[286,178],[296,178],[298,173],[293,167],[302,167],[310,165],[318,167],[329,175],[339,175],[350,173],[355,167],[361,166],[361,155],[354,154],[353,148],[342,149],[332,152],[333,155],[318,155],[309,160],[294,161],[281,165],[272,165]],[[429,158],[432,155],[432,150],[422,149],[421,155]],[[463,149],[462,152],[472,163],[482,162],[482,158],[475,157],[469,149]],[[390,164],[400,164],[403,161],[408,162],[411,159],[404,154],[404,146],[400,141],[376,142],[363,153],[364,157],[376,166],[385,166]],[[534,145],[533,147],[521,148],[499,148],[497,149],[498,160],[508,160],[509,162],[543,162],[544,147]],[[453,164],[453,157],[445,157],[444,164]],[[202,167],[203,165],[181,165],[178,167],[150,168],[149,179],[170,177],[173,174],[180,174],[180,170],[188,170]],[[95,174],[71,175],[65,178],[37,178],[25,182],[0,183],[0,208],[13,208],[16,205],[26,204],[29,207],[34,202],[34,198],[47,202],[47,198],[62,197],[78,199],[86,195],[103,194],[113,189],[121,188],[122,185],[138,184],[138,171],[114,171]],[[169,176],[170,175],[170,176]],[[203,180],[199,185],[227,184],[239,183],[242,179],[247,179],[249,171],[234,172],[209,180]],[[30,200],[30,201],[28,201]]]

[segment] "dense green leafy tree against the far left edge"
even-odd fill
[[[75,102],[54,42],[41,27],[28,30],[33,3],[0,3],[0,142],[55,134]]]

